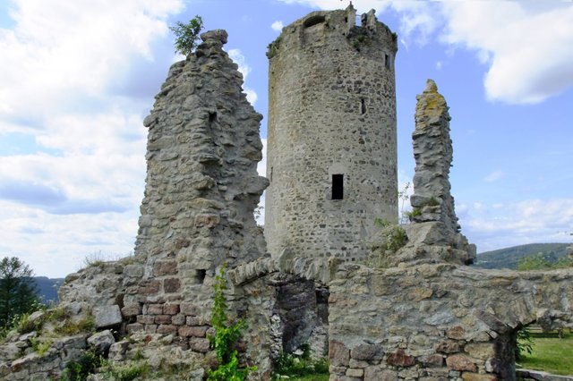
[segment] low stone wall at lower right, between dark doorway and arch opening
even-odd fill
[[[517,328],[543,316],[573,326],[571,279],[571,269],[342,265],[330,283],[330,381],[513,380]]]

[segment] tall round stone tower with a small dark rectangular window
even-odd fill
[[[273,256],[364,258],[398,219],[397,36],[374,11],[313,12],[269,45],[265,236]]]

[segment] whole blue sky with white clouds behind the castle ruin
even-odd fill
[[[0,2],[0,255],[64,276],[133,250],[145,179],[142,119],[174,54],[168,25],[200,14],[263,115],[267,45],[339,0]],[[355,0],[398,33],[398,172],[414,174],[415,95],[450,106],[452,192],[478,252],[573,237],[573,3]],[[264,163],[260,165],[264,169]]]

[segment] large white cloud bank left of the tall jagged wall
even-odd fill
[[[165,78],[171,55],[158,51],[171,48],[159,43],[181,9],[180,0],[13,1],[13,28],[0,29],[0,134],[36,147],[0,157],[3,255],[63,276],[92,252],[133,250],[141,110]]]

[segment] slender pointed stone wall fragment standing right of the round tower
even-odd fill
[[[449,107],[433,80],[427,81],[423,93],[416,99],[412,134],[414,194],[410,198],[414,224],[407,228],[410,245],[406,251],[412,254],[409,259],[432,258],[471,264],[475,245],[468,244],[466,237],[459,233],[454,198],[450,193],[453,149],[449,138]],[[416,249],[412,250],[412,246]]]

